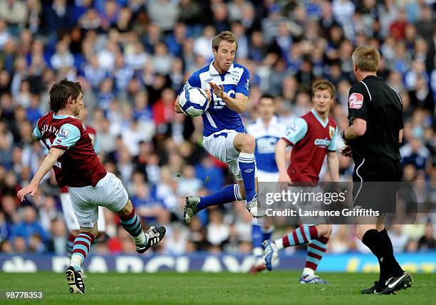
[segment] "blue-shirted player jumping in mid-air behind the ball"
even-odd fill
[[[249,71],[244,66],[233,63],[237,48],[234,33],[219,33],[212,40],[214,61],[194,72],[183,88],[202,88],[209,95],[211,104],[202,115],[204,148],[217,159],[226,162],[238,180],[237,184],[228,185],[212,195],[187,197],[183,212],[186,223],[206,207],[224,205],[244,198],[247,201],[247,210],[254,217],[265,214],[257,200],[254,138],[244,133],[240,115],[248,100]],[[178,97],[175,111],[182,113]]]

